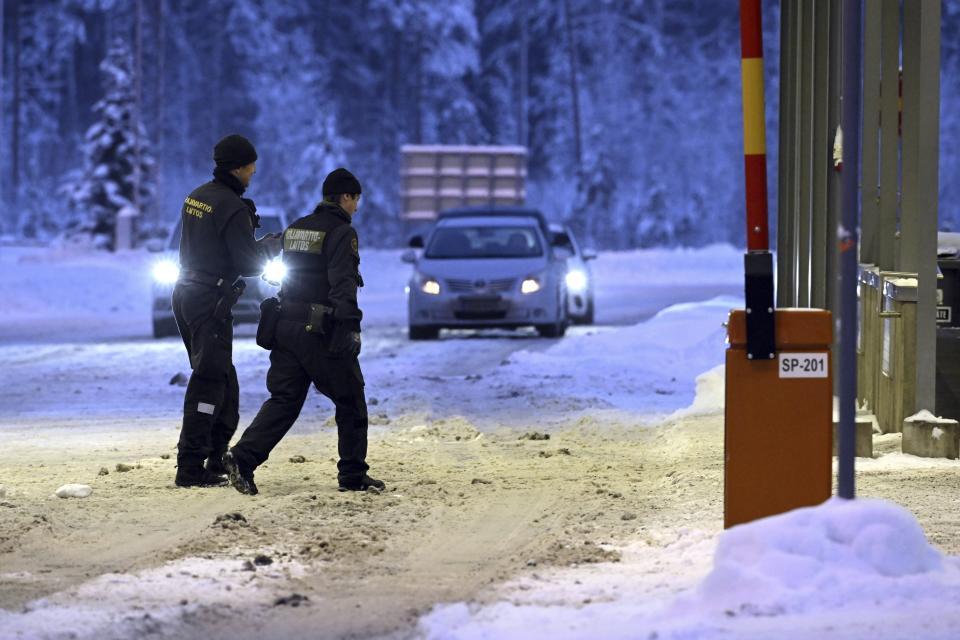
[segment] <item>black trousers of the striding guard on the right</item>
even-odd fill
[[[277,323],[267,371],[270,399],[231,451],[248,469],[263,464],[300,415],[311,383],[336,407],[337,478],[341,483],[359,482],[369,469],[367,400],[360,362],[355,356],[330,353],[324,337],[308,333],[302,322],[281,319]]]

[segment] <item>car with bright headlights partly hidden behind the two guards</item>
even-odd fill
[[[287,228],[286,216],[279,209],[260,207],[260,227],[254,235],[259,240],[268,233],[282,233]],[[173,318],[171,295],[180,276],[180,220],[173,226],[166,243],[150,246],[159,253],[153,263],[153,337],[164,338],[180,335],[176,320]],[[274,258],[263,265],[261,276],[244,278],[247,288],[233,307],[233,320],[237,324],[257,323],[260,321],[260,303],[277,294],[280,282],[286,273],[281,259]]]

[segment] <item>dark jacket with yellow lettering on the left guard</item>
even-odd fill
[[[229,173],[215,175],[183,202],[180,267],[227,282],[258,275],[271,256],[253,237],[256,208],[240,197],[240,180]]]

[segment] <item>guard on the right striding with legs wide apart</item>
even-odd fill
[[[337,169],[323,181],[323,201],[313,213],[283,233],[287,276],[267,372],[270,399],[223,457],[240,493],[257,493],[253,472],[293,426],[311,383],[336,407],[340,490],[384,488],[367,475],[367,402],[357,360],[363,316],[357,288],[363,279],[350,224],[359,202],[360,182]]]

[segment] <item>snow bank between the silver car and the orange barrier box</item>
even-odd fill
[[[632,327],[571,335],[545,351],[514,353],[503,376],[517,385],[549,379],[542,384],[551,393],[599,396],[619,409],[670,413],[694,401],[692,380],[723,362],[723,322],[730,309],[741,305],[736,298],[721,296],[674,305]],[[703,381],[704,404],[696,411],[715,406],[716,397],[722,396],[718,377],[722,375],[714,371]]]

